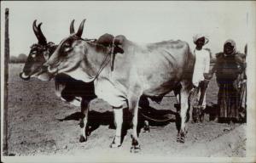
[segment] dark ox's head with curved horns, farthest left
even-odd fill
[[[38,38],[38,43],[32,44],[24,68],[20,72],[20,78],[23,80],[29,80],[31,76],[44,81],[50,79],[49,73],[42,66],[49,59],[49,55],[54,52],[55,45],[53,42],[47,42],[41,31],[41,25],[42,23],[37,26],[37,20],[34,20],[32,29]]]

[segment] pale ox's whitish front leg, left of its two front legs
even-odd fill
[[[115,136],[113,142],[110,144],[111,148],[121,146],[122,125],[123,125],[123,108],[113,108],[114,124],[116,126]]]

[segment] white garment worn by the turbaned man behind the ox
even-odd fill
[[[205,50],[195,49],[195,68],[193,73],[193,84],[199,86],[199,82],[204,81],[204,73],[208,73],[210,69],[210,53]],[[198,93],[198,98],[201,96],[201,90]],[[206,108],[206,95],[204,96],[202,106]]]

